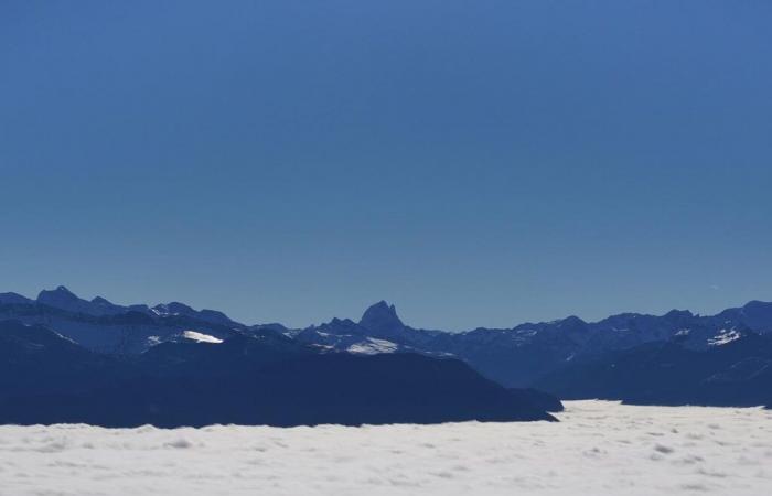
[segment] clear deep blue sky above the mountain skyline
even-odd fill
[[[772,2],[0,3],[0,291],[463,330],[772,300]]]

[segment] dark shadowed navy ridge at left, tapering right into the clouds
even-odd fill
[[[0,322],[0,422],[105,427],[555,420],[468,365],[319,353],[281,334],[101,355]]]

